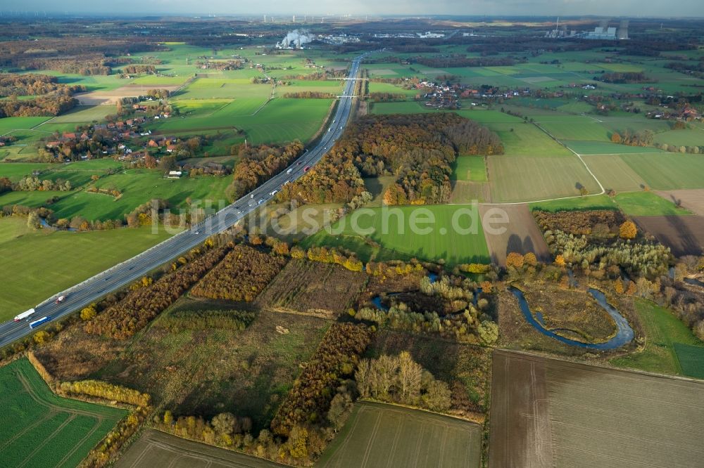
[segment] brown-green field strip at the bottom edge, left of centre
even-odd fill
[[[116,468],[193,467],[193,468],[274,468],[283,465],[250,457],[224,448],[147,429],[134,442]]]

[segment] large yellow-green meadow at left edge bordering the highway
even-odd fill
[[[51,233],[30,230],[23,218],[2,218],[3,268],[13,274],[6,275],[0,288],[0,320],[8,320],[168,237],[163,229],[152,234],[150,227]]]

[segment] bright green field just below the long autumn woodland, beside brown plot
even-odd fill
[[[471,213],[471,205],[359,209],[335,223],[327,235],[340,236],[343,247],[348,236],[368,237],[384,249],[418,259],[489,263],[478,210],[475,219]]]

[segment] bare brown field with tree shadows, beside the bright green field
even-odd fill
[[[535,223],[527,204],[504,204],[500,206],[479,205],[479,213],[486,221],[488,212],[496,209],[508,215],[508,224],[496,224],[494,228],[505,228],[502,234],[490,232],[489,223],[484,223],[484,237],[494,264],[505,266],[506,256],[510,252],[527,254],[533,252],[539,261],[551,261],[552,257],[543,234]],[[499,212],[501,213],[501,212]]]

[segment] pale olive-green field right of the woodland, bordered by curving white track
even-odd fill
[[[534,202],[580,195],[599,186],[576,156],[489,156],[492,202]]]

